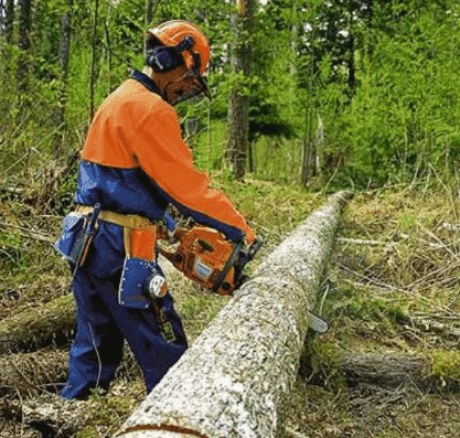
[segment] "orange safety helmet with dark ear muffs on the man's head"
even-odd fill
[[[169,47],[172,52],[170,51],[164,55],[161,53],[157,54],[156,51],[159,47]],[[156,67],[154,64],[157,64],[160,66],[160,72],[163,67],[174,67],[174,57],[179,55],[191,75],[199,82],[200,89],[197,92],[204,93],[211,98],[206,82],[203,78],[210,64],[210,43],[204,33],[195,24],[185,20],[170,20],[153,29],[149,29],[147,33],[147,49],[148,57],[146,63],[152,67]],[[150,58],[149,53],[151,54]],[[191,93],[191,95],[199,93]],[[191,95],[188,97],[192,97]]]

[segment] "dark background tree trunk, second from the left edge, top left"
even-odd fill
[[[30,56],[30,32],[32,28],[32,0],[19,0],[19,41],[21,50],[18,61],[18,90],[24,93],[29,89],[29,75],[31,74],[32,60]]]

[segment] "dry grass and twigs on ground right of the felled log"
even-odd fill
[[[355,196],[325,284],[332,330],[312,344],[320,370],[310,385],[296,385],[290,429],[328,438],[459,436],[460,395],[449,393],[458,384],[445,394],[351,388],[336,359],[344,352],[414,354],[427,357],[442,382],[460,380],[458,224],[456,188]]]

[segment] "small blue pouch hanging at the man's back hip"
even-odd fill
[[[83,253],[88,246],[85,233],[88,220],[81,213],[69,213],[64,217],[61,237],[54,244],[56,250],[73,265],[81,266],[85,260]]]

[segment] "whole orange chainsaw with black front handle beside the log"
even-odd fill
[[[248,248],[231,242],[221,232],[199,224],[176,226],[158,235],[159,252],[185,277],[220,295],[232,295],[246,279],[246,265],[253,260],[264,241],[257,236]],[[161,241],[169,241],[170,245]]]

